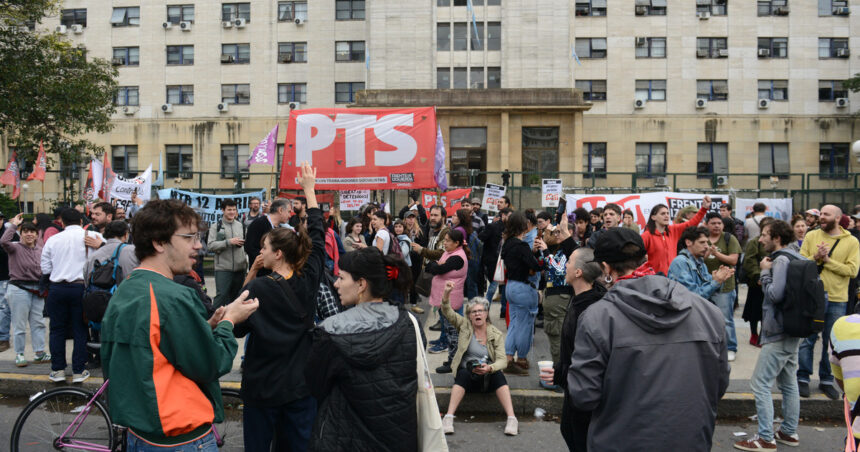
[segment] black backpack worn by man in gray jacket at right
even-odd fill
[[[818,276],[818,265],[815,261],[799,259],[787,252],[777,251],[772,258],[778,256],[785,256],[789,260],[785,298],[779,306],[782,309],[783,331],[791,337],[808,337],[820,333],[824,329],[827,301],[824,284]]]

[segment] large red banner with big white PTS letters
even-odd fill
[[[317,167],[318,190],[432,188],[433,107],[318,108],[290,112],[281,189],[299,189],[296,168]]]

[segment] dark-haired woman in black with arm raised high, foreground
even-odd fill
[[[317,402],[305,384],[311,329],[325,262],[322,211],[314,192],[316,170],[304,164],[299,184],[308,201],[307,232],[276,228],[263,237],[262,266],[272,273],[242,290],[260,307],[233,329],[245,342],[242,372],[246,450],[307,449]],[[259,262],[259,261],[258,261]],[[259,264],[251,268],[255,273]],[[253,275],[252,275],[253,277]]]

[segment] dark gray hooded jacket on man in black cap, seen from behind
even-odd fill
[[[574,406],[593,411],[588,449],[709,451],[729,384],[720,310],[660,275],[619,281],[577,324]]]

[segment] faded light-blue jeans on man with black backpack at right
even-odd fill
[[[800,417],[800,395],[797,392],[797,346],[801,338],[787,337],[781,341],[764,344],[755,363],[750,387],[755,395],[758,414],[758,436],[773,441],[773,396],[770,388],[776,380],[782,393],[782,425],[779,429],[787,435],[797,430]]]

